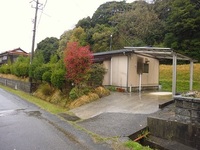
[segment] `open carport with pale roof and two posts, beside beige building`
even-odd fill
[[[158,60],[170,59],[173,64],[172,71],[172,95],[176,94],[176,74],[177,74],[177,60],[190,62],[190,90],[193,89],[193,63],[197,62],[188,56],[182,55],[171,48],[159,48],[159,47],[125,47],[130,49],[136,54],[153,57]]]

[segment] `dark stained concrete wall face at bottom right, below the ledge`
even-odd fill
[[[155,137],[177,141],[200,149],[200,126],[197,124],[183,123],[176,119],[165,120],[154,117],[148,117],[147,124],[150,134]]]

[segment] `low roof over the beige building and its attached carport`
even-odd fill
[[[145,56],[153,57],[159,60],[173,59],[173,55],[176,54],[177,60],[186,60],[186,61],[196,62],[196,60],[188,56],[182,55],[180,53],[177,53],[171,48],[160,48],[160,47],[124,47],[124,49],[120,49],[120,50],[94,53],[94,57],[95,57],[95,61],[101,61],[101,60],[110,58],[112,55],[128,54],[128,53],[136,53],[140,55],[145,55]]]

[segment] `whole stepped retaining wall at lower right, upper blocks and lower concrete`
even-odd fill
[[[174,97],[174,101],[147,118],[151,135],[200,150],[200,99]]]

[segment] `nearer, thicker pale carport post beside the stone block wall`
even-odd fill
[[[176,67],[177,67],[177,56],[173,53],[173,71],[172,71],[172,95],[176,94]]]

